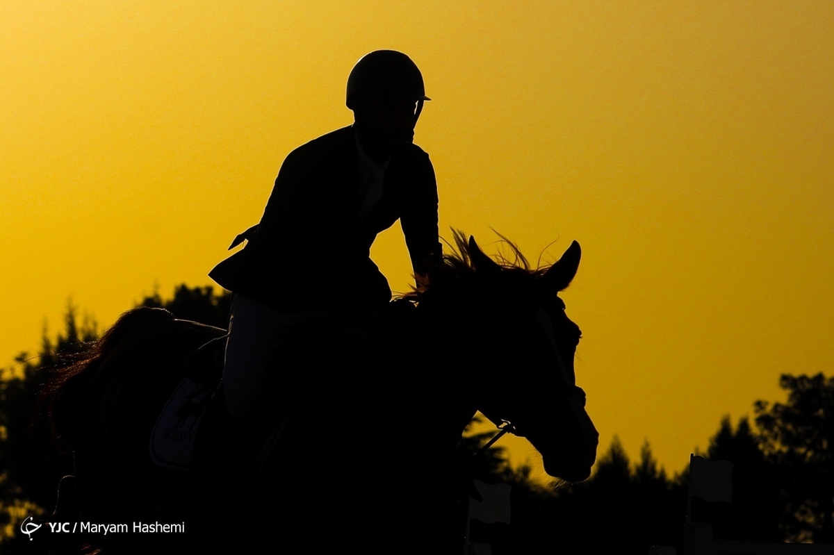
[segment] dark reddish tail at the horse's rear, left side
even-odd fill
[[[123,313],[100,338],[86,343],[80,352],[63,358],[54,368],[38,399],[37,413],[46,414],[53,442],[59,448],[76,446],[83,431],[95,419],[96,408],[86,403],[94,384],[108,371],[108,360],[126,344],[141,340],[142,330],[158,329],[174,321],[162,308],[133,308]],[[68,444],[68,445],[67,445]]]

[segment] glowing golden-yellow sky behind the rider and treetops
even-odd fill
[[[441,233],[578,240],[602,447],[680,470],[780,373],[834,369],[832,28],[828,0],[3,2],[0,366],[68,298],[108,325],[210,283],[286,154],[351,122],[353,63],[394,48],[433,98]],[[374,258],[404,290],[398,233]]]

